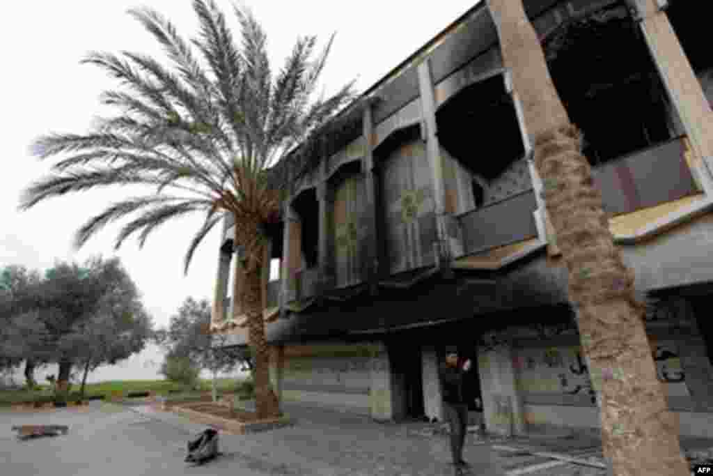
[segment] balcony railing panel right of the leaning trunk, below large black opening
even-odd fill
[[[658,144],[593,169],[609,216],[631,213],[697,193],[685,158],[685,138]]]

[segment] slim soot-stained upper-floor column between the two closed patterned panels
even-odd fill
[[[369,283],[371,293],[376,294],[379,283],[379,221],[376,219],[376,209],[379,206],[377,202],[377,180],[374,173],[374,122],[371,117],[371,103],[364,108],[364,143],[366,151],[364,153],[364,161],[361,163],[361,170],[364,173],[366,181],[366,208],[369,215],[369,228],[371,228],[371,236],[369,239],[369,257],[371,261]]]

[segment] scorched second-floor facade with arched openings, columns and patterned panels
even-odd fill
[[[685,3],[672,2],[667,18],[708,101],[713,58],[701,39],[679,34],[697,17]],[[647,219],[661,222],[667,203],[709,200],[713,163],[682,110],[701,98],[677,96],[632,2],[525,6],[583,132],[615,239],[634,239],[617,231],[622,217],[658,210]],[[556,253],[509,74],[488,9],[478,5],[342,113],[347,132],[297,184],[270,231],[266,313],[457,267],[489,250],[547,243]],[[233,226],[227,217],[226,253]]]

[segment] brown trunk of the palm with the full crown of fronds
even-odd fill
[[[235,220],[235,223],[241,221]],[[270,385],[270,349],[265,338],[265,321],[262,317],[262,258],[265,255],[265,241],[257,236],[257,226],[242,222],[245,228],[255,230],[250,236],[245,229],[240,233],[240,227],[235,227],[235,243],[251,243],[246,246],[247,266],[242,268],[240,260],[235,260],[235,289],[240,290],[240,303],[234,305],[237,313],[242,307],[247,316],[248,345],[255,355],[255,368],[252,372],[255,383],[255,406],[258,418],[279,417],[279,401]],[[240,233],[240,234],[239,234]],[[242,283],[238,286],[237,277],[242,274]],[[237,296],[237,294],[234,294]]]

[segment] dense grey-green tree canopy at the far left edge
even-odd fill
[[[14,266],[0,274],[0,357],[95,369],[143,350],[153,323],[118,258],[56,263],[44,277]],[[9,284],[8,284],[9,283]]]

